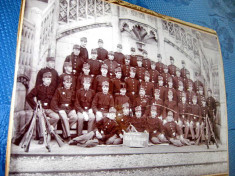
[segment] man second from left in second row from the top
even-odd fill
[[[102,61],[97,59],[97,50],[91,50],[91,59],[87,60],[87,63],[90,65],[90,74],[93,77],[96,77],[100,74],[100,67],[102,65]]]

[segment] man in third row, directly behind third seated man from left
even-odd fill
[[[88,63],[84,63],[82,67],[83,74],[80,74],[77,79],[76,89],[79,90],[83,87],[83,82],[85,78],[89,78],[91,80],[91,88],[93,88],[93,76],[89,75],[90,73],[90,65]]]

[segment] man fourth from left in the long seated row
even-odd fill
[[[102,83],[102,92],[96,93],[92,101],[92,109],[96,115],[96,121],[103,119],[111,107],[114,107],[114,99],[109,92],[109,82]]]

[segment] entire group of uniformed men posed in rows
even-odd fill
[[[61,119],[63,137],[69,144],[121,144],[129,131],[149,132],[152,143],[169,142],[176,146],[190,145],[199,136],[205,139],[205,118],[214,123],[215,99],[204,85],[190,79],[182,60],[182,68],[148,58],[147,51],[130,55],[103,48],[86,49],[87,39],[73,46],[67,56],[63,73],[58,76],[55,58],[47,58],[47,66],[38,72],[35,88],[27,95],[28,104],[35,109],[35,97],[41,101],[48,119],[55,128]],[[88,121],[83,134],[84,121]],[[77,137],[71,138],[70,128],[77,123]],[[39,143],[43,137],[39,133]],[[190,135],[191,134],[191,135]],[[189,140],[190,139],[190,140]]]

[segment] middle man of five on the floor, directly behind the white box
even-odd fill
[[[132,132],[146,132],[147,122],[146,116],[142,115],[141,106],[135,107],[135,115],[130,120],[130,130]]]

